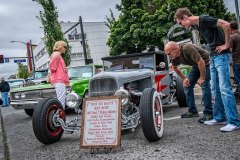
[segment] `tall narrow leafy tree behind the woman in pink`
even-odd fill
[[[53,0],[37,0],[37,2],[43,7],[43,11],[40,11],[40,17],[37,17],[43,25],[44,30],[44,44],[47,48],[49,56],[53,52],[53,46],[56,41],[63,40],[68,44],[64,33],[62,32],[61,25],[58,22],[57,8],[54,6]],[[71,47],[68,48],[65,54],[62,55],[65,64],[68,66],[71,62],[70,54]]]

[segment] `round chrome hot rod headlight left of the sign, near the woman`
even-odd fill
[[[66,105],[69,107],[69,108],[77,108],[78,106],[80,106],[82,103],[82,98],[77,95],[76,93],[72,92],[72,93],[69,93],[67,94],[66,96]]]

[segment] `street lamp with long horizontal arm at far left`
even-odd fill
[[[27,46],[27,54],[28,54],[28,61],[29,61],[29,70],[30,72],[32,71],[33,72],[33,75],[34,75],[34,72],[35,72],[35,63],[34,63],[34,57],[33,57],[33,48],[32,48],[32,41],[30,39],[29,42],[25,43],[25,42],[22,42],[22,41],[10,41],[10,43],[22,43],[24,45]],[[31,54],[31,55],[30,55]],[[31,61],[32,59],[32,61]]]

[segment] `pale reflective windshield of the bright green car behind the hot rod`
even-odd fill
[[[73,78],[90,78],[93,76],[92,66],[78,66],[68,68],[68,76],[70,79]]]

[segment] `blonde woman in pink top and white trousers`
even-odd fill
[[[51,84],[55,87],[57,99],[61,102],[63,109],[65,109],[66,86],[69,86],[69,77],[66,65],[62,58],[65,53],[67,43],[64,41],[57,41],[53,47],[53,53],[50,57],[49,69],[51,73]]]

